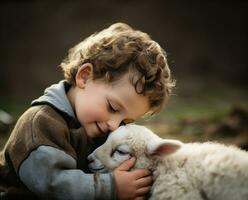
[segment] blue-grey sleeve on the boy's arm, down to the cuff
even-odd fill
[[[86,174],[76,169],[76,160],[50,146],[40,146],[19,169],[21,181],[44,199],[115,199],[111,173]]]

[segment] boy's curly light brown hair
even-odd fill
[[[93,65],[93,79],[109,83],[131,72],[131,84],[148,97],[153,114],[162,109],[175,86],[166,52],[148,34],[124,23],[115,23],[70,49],[60,65],[65,79],[75,84],[84,63]]]

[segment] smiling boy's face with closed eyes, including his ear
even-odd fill
[[[107,134],[149,111],[148,98],[136,93],[128,74],[110,84],[92,80],[91,70],[90,64],[79,69],[76,86],[72,88],[72,95],[68,95],[89,137]]]

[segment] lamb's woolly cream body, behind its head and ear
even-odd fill
[[[184,144],[158,162],[154,178],[151,199],[247,200],[248,154],[214,143]]]

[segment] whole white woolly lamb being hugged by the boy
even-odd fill
[[[139,125],[121,126],[89,155],[93,172],[130,157],[153,172],[151,200],[248,200],[248,152],[219,143],[162,139]]]

